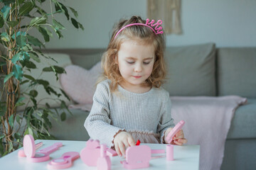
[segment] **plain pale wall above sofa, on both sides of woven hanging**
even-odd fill
[[[168,46],[215,42],[218,47],[256,46],[255,0],[181,0],[182,35],[168,35]],[[67,0],[79,13],[85,30],[77,30],[65,17],[58,21],[67,28],[64,39],[53,40],[48,48],[107,47],[112,26],[119,18],[139,15],[146,18],[146,0]],[[48,8],[48,7],[45,7]]]

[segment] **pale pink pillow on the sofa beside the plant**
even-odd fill
[[[76,65],[65,67],[67,74],[60,75],[60,84],[70,98],[79,104],[92,104],[97,78],[102,73],[100,62],[90,70]]]

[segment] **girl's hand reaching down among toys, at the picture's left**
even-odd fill
[[[125,149],[135,145],[134,139],[129,132],[121,131],[114,137],[114,149],[119,157],[125,155]]]

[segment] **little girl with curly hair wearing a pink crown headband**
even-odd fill
[[[161,88],[166,67],[160,24],[137,16],[120,21],[102,57],[104,72],[85,128],[92,139],[113,147],[119,156],[137,140],[167,143],[165,136],[174,128],[169,93]],[[183,143],[180,130],[172,144]]]

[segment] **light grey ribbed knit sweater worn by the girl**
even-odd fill
[[[169,93],[153,87],[144,94],[136,94],[119,85],[118,91],[110,92],[108,79],[97,84],[92,109],[85,120],[90,137],[112,147],[114,135],[126,130],[145,137],[154,135],[163,142],[166,129],[174,127]]]

